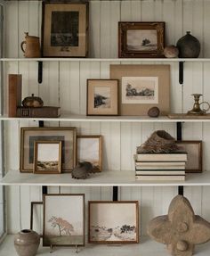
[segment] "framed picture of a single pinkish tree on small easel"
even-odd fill
[[[43,246],[85,245],[85,194],[44,194],[43,231]]]

